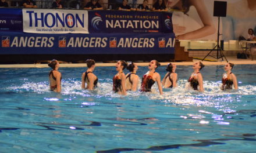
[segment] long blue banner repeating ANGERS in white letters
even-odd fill
[[[171,34],[0,34],[0,54],[174,54]]]

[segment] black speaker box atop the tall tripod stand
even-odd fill
[[[226,17],[227,2],[214,1],[214,16]]]

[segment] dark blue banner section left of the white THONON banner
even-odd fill
[[[0,8],[0,31],[22,32],[22,9]]]

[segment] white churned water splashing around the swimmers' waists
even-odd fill
[[[255,95],[256,86],[254,85],[241,85],[239,90],[221,90],[219,86],[220,82],[214,81],[204,81],[203,93],[195,90],[186,89],[187,80],[180,79],[177,83],[177,88],[173,89],[163,89],[163,94],[160,95],[158,92],[157,83],[152,86],[151,93],[141,93],[141,92],[127,92],[127,96],[123,96],[112,91],[112,79],[102,79],[98,83],[98,87],[93,90],[81,89],[81,81],[74,78],[63,79],[62,81],[62,94],[63,95],[74,95],[82,97],[94,97],[100,99],[104,97],[105,99],[113,98],[124,98],[127,100],[153,100],[158,103],[169,103],[169,104],[179,104],[179,105],[208,105],[214,107],[221,107],[223,103],[233,103],[239,102],[241,96],[244,95]],[[13,92],[31,92],[37,94],[47,94],[49,93],[48,82],[30,82],[24,80],[22,85],[12,85],[6,90],[12,90]],[[141,82],[140,82],[141,83]],[[139,86],[140,86],[139,83]]]

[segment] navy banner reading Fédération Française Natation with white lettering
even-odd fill
[[[90,33],[172,33],[172,13],[90,11],[88,12]]]

